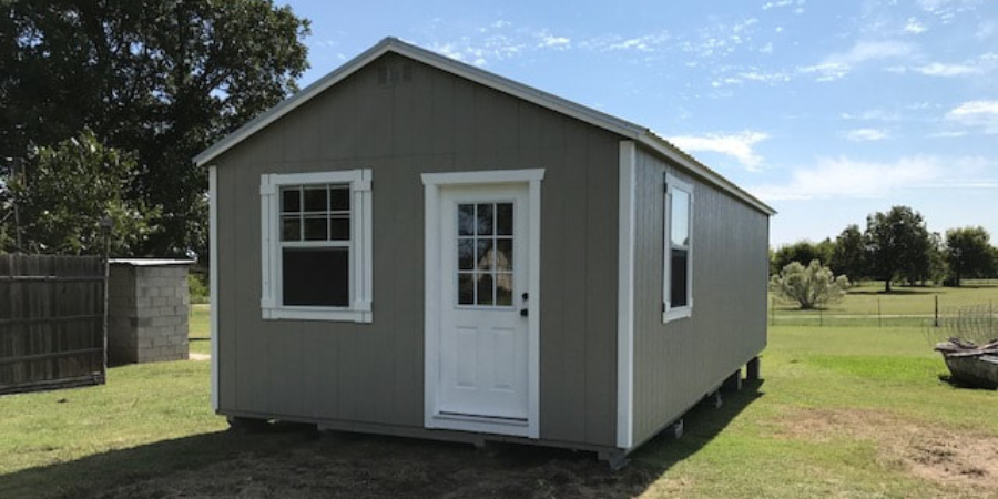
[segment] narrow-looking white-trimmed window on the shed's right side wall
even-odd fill
[[[693,312],[693,186],[665,174],[662,320]]]

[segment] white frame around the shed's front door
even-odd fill
[[[540,438],[540,182],[543,169],[492,170],[480,172],[424,173],[426,189],[425,245],[425,374],[424,426],[426,428],[454,429],[499,435]],[[530,200],[528,231],[527,302],[527,425],[505,424],[475,417],[441,417],[438,414],[437,381],[440,369],[440,189],[455,185],[527,184]]]

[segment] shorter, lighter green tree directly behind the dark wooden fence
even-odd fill
[[[23,246],[31,253],[101,254],[100,220],[112,221],[111,251],[132,254],[156,227],[157,208],[128,200],[135,160],[108,147],[90,130],[30,157],[24,175],[3,179],[19,208]],[[8,224],[9,225],[9,224]]]

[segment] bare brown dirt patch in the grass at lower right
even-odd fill
[[[876,410],[806,409],[780,419],[777,435],[829,441],[848,438],[877,444],[886,464],[965,491],[998,493],[998,437],[950,431]]]

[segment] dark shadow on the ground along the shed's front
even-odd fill
[[[0,476],[10,497],[633,497],[696,454],[762,394],[760,381],[697,406],[679,440],[659,436],[614,471],[593,452],[272,426],[111,450]]]

